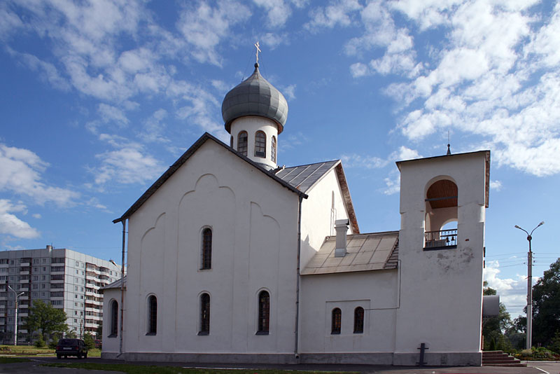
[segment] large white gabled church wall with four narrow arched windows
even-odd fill
[[[260,170],[204,143],[130,218],[127,352],[293,352],[297,203]],[[204,227],[213,230],[211,270],[200,270]],[[255,335],[262,289],[271,298],[269,335]],[[199,336],[203,292],[210,333]],[[158,332],[146,336],[151,294]]]

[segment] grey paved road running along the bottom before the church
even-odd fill
[[[125,363],[125,361],[104,360],[100,358],[89,359],[62,359],[57,360],[55,357],[41,357],[31,358],[32,361],[24,363],[8,363],[0,366],[0,374],[122,374],[113,371],[92,371],[83,369],[71,368],[50,368],[41,366],[41,363],[50,362],[94,362],[94,363]],[[155,365],[155,366],[183,366],[183,367],[205,367],[205,368],[251,368],[251,369],[264,369],[264,368],[283,368],[288,370],[325,370],[325,371],[358,371],[360,373],[374,373],[374,374],[560,374],[560,362],[529,362],[527,368],[503,368],[496,366],[466,366],[466,367],[437,367],[437,368],[419,368],[412,366],[374,366],[374,365],[255,365],[248,364],[242,365],[226,365],[226,364],[200,364],[200,363],[162,363],[162,362],[136,362],[141,365]]]

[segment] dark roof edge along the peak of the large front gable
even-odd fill
[[[125,214],[120,216],[118,219],[114,219],[113,223],[124,221],[125,219],[128,219],[130,216],[132,216],[132,214],[134,214],[134,212],[136,212],[144,204],[144,202],[146,202],[146,200],[148,200],[151,197],[151,195],[153,195],[155,193],[155,191],[158,191],[158,188],[160,188],[160,186],[162,186],[162,184],[165,183],[165,181],[167,181],[167,179],[169,179],[174,174],[174,172],[176,172],[179,169],[179,167],[181,167],[190,158],[190,156],[193,155],[197,151],[197,149],[200,148],[202,146],[202,144],[204,144],[206,141],[214,141],[216,144],[218,144],[220,146],[223,146],[225,149],[227,149],[228,151],[230,151],[231,153],[233,153],[237,157],[241,158],[241,160],[244,160],[245,162],[248,162],[250,165],[252,165],[256,169],[260,170],[260,172],[269,176],[269,178],[274,179],[274,181],[277,181],[282,186],[288,188],[288,190],[292,191],[293,193],[296,193],[297,195],[300,195],[300,197],[302,197],[302,198],[307,199],[307,195],[305,193],[298,190],[297,188],[292,186],[290,183],[288,183],[286,181],[283,181],[278,176],[276,176],[273,172],[269,172],[267,169],[258,165],[256,162],[253,162],[252,160],[246,158],[244,155],[241,155],[240,153],[237,153],[237,151],[235,151],[235,149],[233,149],[230,146],[228,146],[227,144],[223,143],[223,141],[218,140],[216,137],[212,136],[208,132],[204,132],[202,137],[200,137],[197,141],[195,141],[195,144],[190,146],[190,148],[188,148],[188,150],[185,153],[183,153],[183,155],[181,155],[181,157],[178,160],[176,160],[174,162],[174,164],[171,165],[169,167],[169,169],[167,169],[167,171],[165,173],[163,173],[162,176],[160,176],[160,178],[158,178],[158,180],[155,181],[152,184],[152,186],[150,186],[150,188],[148,188],[146,190],[146,192],[143,195],[140,196],[140,198],[138,200],[136,200],[136,202],[134,202],[132,207],[130,207],[125,212]]]

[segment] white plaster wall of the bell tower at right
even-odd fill
[[[485,155],[405,162],[400,178],[402,295],[395,352],[414,354],[409,360],[417,361],[421,342],[426,342],[427,354],[479,352]],[[458,186],[458,245],[424,251],[425,194],[442,178]]]

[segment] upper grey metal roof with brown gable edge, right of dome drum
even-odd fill
[[[344,201],[346,212],[348,212],[349,220],[352,225],[352,232],[358,234],[360,233],[360,228],[358,227],[356,212],[354,212],[352,199],[350,198],[350,190],[348,188],[348,183],[346,183],[346,176],[344,175],[344,169],[342,169],[342,162],[340,160],[283,167],[276,171],[276,176],[290,183],[298,190],[309,193],[311,188],[314,188],[314,186],[316,186],[316,184],[332,169],[335,169],[337,174],[340,189],[342,190],[342,200]]]

